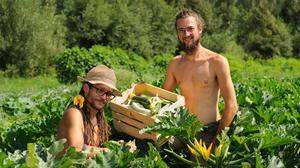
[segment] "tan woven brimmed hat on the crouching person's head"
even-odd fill
[[[103,84],[113,89],[113,94],[121,96],[121,92],[116,88],[115,72],[105,65],[98,65],[92,68],[85,76],[85,78],[77,76],[80,82],[89,82],[91,84]]]

